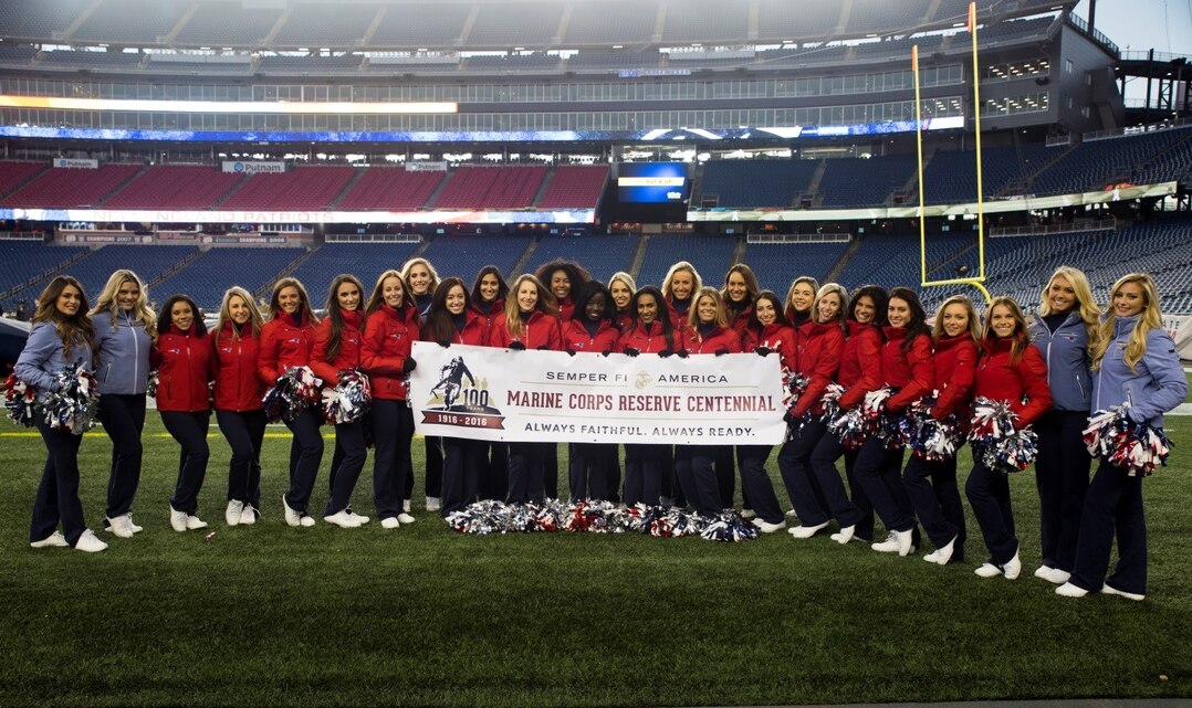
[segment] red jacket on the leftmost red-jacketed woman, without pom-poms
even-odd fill
[[[150,359],[157,369],[157,411],[199,413],[211,409],[209,391],[215,377],[211,334],[195,334],[193,325],[187,332],[167,325],[157,337]]]

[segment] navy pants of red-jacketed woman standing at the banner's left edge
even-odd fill
[[[391,519],[402,513],[405,482],[412,475],[414,412],[405,401],[373,399],[368,420],[373,438],[373,502],[377,516]]]

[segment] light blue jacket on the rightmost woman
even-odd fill
[[[1136,364],[1137,374],[1125,365],[1125,347],[1130,333],[1142,315],[1118,318],[1113,342],[1105,351],[1101,368],[1093,371],[1093,411],[1104,411],[1130,402],[1130,418],[1162,427],[1163,413],[1175,408],[1188,395],[1175,342],[1162,328],[1147,332],[1147,353]]]

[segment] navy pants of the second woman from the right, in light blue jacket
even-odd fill
[[[1043,565],[1068,572],[1076,559],[1080,514],[1093,465],[1082,438],[1086,425],[1088,413],[1082,411],[1049,411],[1035,422],[1039,437],[1035,484],[1039,493]]]

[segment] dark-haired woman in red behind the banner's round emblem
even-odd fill
[[[638,313],[633,327],[621,334],[621,353],[637,357],[656,353],[669,357],[685,350],[683,331],[676,331],[662,290],[646,286],[633,295],[631,308]],[[670,474],[670,446],[641,443],[625,446],[625,503],[658,506],[663,475]]]

